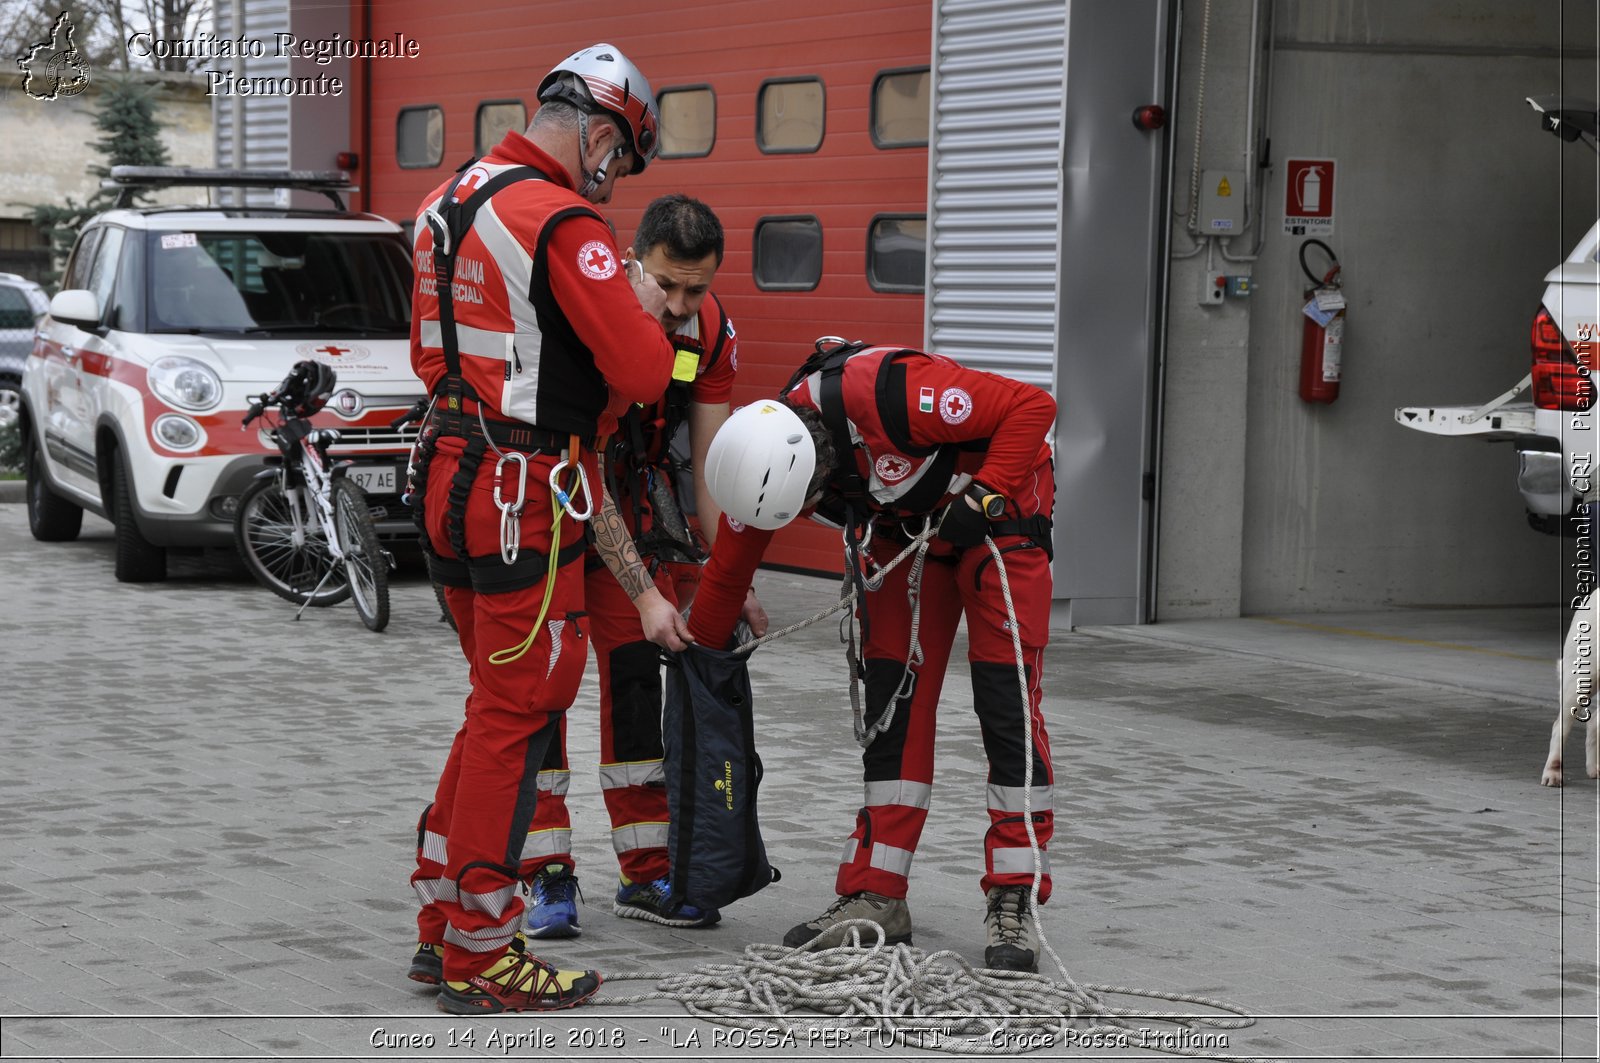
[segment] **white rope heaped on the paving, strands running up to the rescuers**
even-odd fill
[[[894,560],[880,568],[869,588],[882,586],[882,578],[912,552],[918,562],[936,530],[928,525],[914,536]],[[1238,1057],[1208,1050],[1227,1047],[1222,1034],[1208,1031],[1245,1029],[1254,1018],[1240,1005],[1192,993],[1171,993],[1138,986],[1080,985],[1067,973],[1066,964],[1045,937],[1038,917],[1038,885],[1043,880],[1043,858],[1034,832],[1034,708],[1022,660],[1022,637],[1011,600],[1011,583],[1005,559],[994,540],[986,536],[989,554],[1000,573],[1000,594],[1010,620],[1011,648],[1016,655],[1018,690],[1026,716],[1022,768],[1022,821],[1034,855],[1034,882],[1029,889],[1029,913],[1038,933],[1038,945],[1056,965],[1061,978],[1027,972],[973,967],[958,953],[941,949],[923,953],[910,945],[886,945],[882,925],[869,919],[851,919],[845,927],[846,943],[819,949],[813,941],[789,948],[782,945],[749,945],[739,961],[701,964],[690,972],[619,972],[606,975],[606,985],[618,981],[654,981],[656,988],[635,994],[606,991],[595,1004],[627,1005],[648,1001],[675,1001],[691,1017],[741,1029],[778,1029],[797,1044],[811,1044],[813,1031],[850,1031],[883,1047],[910,1047],[960,1055],[1021,1055],[1048,1047],[1101,1045],[1147,1049],[1166,1055],[1218,1060],[1219,1063],[1272,1063],[1266,1057]],[[914,567],[914,578],[920,575]],[[835,612],[850,608],[856,588],[846,575],[843,597],[832,607],[742,644],[736,652],[749,653],[757,645],[781,639],[814,624]],[[915,639],[912,642],[915,648]],[[853,692],[854,693],[854,692]],[[893,708],[893,703],[890,709]],[[886,709],[888,711],[888,709]],[[875,735],[874,728],[872,733]],[[858,738],[861,736],[858,709]],[[870,738],[869,738],[870,741]],[[1114,1007],[1107,996],[1144,997],[1178,1004],[1194,1004],[1214,1013],[1146,1010]],[[1219,1013],[1216,1013],[1219,1012]],[[1133,1020],[1160,1023],[1134,1026]]]

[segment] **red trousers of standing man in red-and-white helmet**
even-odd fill
[[[470,692],[434,804],[418,823],[411,885],[422,905],[418,938],[443,943],[445,978],[458,981],[493,964],[520,929],[518,879],[568,848],[565,775],[541,768],[560,748],[558,732],[582,679],[589,634],[584,528],[563,515],[552,530],[549,474],[555,461],[554,455],[528,458],[520,556],[510,567],[501,560],[494,453],[483,456],[469,480],[458,477],[462,440],[443,439],[426,467],[427,540],[440,559],[435,575],[446,573],[445,600],[469,663]],[[589,482],[598,483],[594,455],[582,461]],[[456,538],[464,535],[466,565],[446,522],[453,487],[458,501],[464,495]],[[515,493],[515,466],[507,464],[501,496],[509,501]],[[582,507],[579,499],[574,504]],[[557,535],[557,557],[565,564],[536,626]]]

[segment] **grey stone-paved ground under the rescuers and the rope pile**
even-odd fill
[[[437,1013],[403,975],[405,879],[466,669],[427,583],[402,575],[373,636],[349,605],[293,623],[222,556],[141,588],[112,580],[110,554],[102,522],[38,544],[0,506],[0,1057],[467,1058],[506,1055],[490,1041],[507,1034],[510,1055],[546,1058],[936,1055],[859,1034],[741,1047],[666,1001]],[[789,620],[834,594],[778,573],[760,588]],[[584,937],[549,957],[683,972],[827,903],[859,804],[840,660],[832,624],[755,655],[784,879],[701,932],[610,914],[590,672],[571,716]],[[1232,1055],[1595,1058],[1600,800],[1590,780],[1539,786],[1550,708],[1067,632],[1046,680],[1061,784],[1045,927],[1074,978],[1234,1001],[1259,1020],[1226,1036]],[[910,903],[918,948],[978,961],[970,708],[957,674]],[[1152,1053],[1029,1058],[1101,1057]]]

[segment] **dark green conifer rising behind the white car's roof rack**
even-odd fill
[[[98,178],[109,178],[112,166],[165,166],[166,144],[162,142],[162,123],[155,118],[155,96],[133,78],[110,78],[101,94],[94,126],[102,136],[94,149],[107,165],[90,166]],[[43,277],[46,287],[54,287],[66,267],[67,255],[78,239],[78,231],[94,215],[107,210],[114,192],[96,191],[88,202],[78,203],[70,195],[62,203],[35,203],[29,208],[34,224],[50,240],[51,266]],[[134,202],[147,199],[138,194]]]

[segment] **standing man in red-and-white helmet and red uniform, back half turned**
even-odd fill
[[[526,134],[429,194],[416,224],[411,365],[432,408],[410,495],[472,688],[418,824],[410,975],[443,981],[438,1007],[454,1013],[571,1007],[600,985],[523,951],[518,880],[566,848],[538,770],[587,653],[574,562],[579,519],[600,509],[594,439],[659,399],[674,367],[659,288],[629,285],[592,207],[656,152],[650,83],[595,45],[550,70],[539,99]],[[610,525],[597,519],[597,536]],[[672,645],[677,612],[640,584],[637,556],[616,560],[645,628]]]

